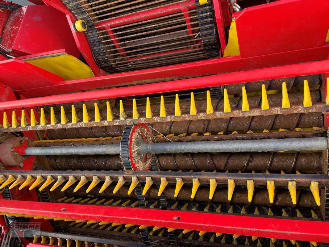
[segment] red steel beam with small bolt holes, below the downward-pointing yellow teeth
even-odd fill
[[[329,242],[329,222],[322,221],[13,200],[0,200],[0,211],[267,238]]]

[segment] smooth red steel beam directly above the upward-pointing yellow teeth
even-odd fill
[[[73,94],[62,94],[38,98],[5,101],[0,102],[0,110],[14,109],[20,107],[32,107],[38,105],[69,103],[85,100],[159,94],[164,92],[215,87],[226,84],[270,80],[300,75],[322,74],[326,72],[329,72],[329,60],[270,67],[266,69],[239,71],[228,74],[204,76],[202,78],[189,78],[151,84],[141,84],[129,87],[103,89],[98,91],[88,91]]]

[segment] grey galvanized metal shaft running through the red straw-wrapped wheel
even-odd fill
[[[314,151],[328,148],[325,137],[271,140],[140,143],[139,153],[197,153],[197,152],[261,152],[261,151]],[[86,145],[66,147],[30,147],[26,155],[91,155],[119,154],[120,145]]]

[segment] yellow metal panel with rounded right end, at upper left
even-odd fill
[[[82,79],[94,76],[88,65],[66,53],[28,58],[25,59],[25,61],[61,76],[64,80]]]

